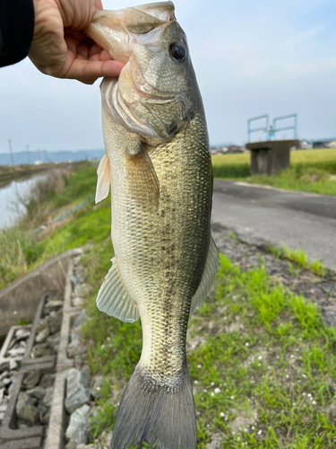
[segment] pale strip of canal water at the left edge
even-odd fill
[[[18,201],[30,192],[36,180],[46,178],[46,173],[32,175],[30,178],[13,180],[0,188],[0,229],[11,226],[24,213],[24,207]]]

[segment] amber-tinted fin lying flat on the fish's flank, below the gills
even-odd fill
[[[159,180],[151,158],[141,145],[138,153],[126,153],[127,189],[141,207],[159,206]]]

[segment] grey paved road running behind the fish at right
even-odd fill
[[[336,198],[215,180],[212,222],[336,268]]]

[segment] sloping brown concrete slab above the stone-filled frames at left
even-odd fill
[[[41,295],[63,293],[69,260],[81,254],[80,249],[66,251],[0,292],[0,336],[19,319],[33,321]]]

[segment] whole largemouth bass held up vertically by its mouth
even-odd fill
[[[106,152],[96,202],[111,190],[115,251],[100,311],[142,321],[142,355],[125,387],[111,448],[147,441],[194,449],[185,339],[211,291],[212,167],[202,96],[172,2],[94,13],[86,34],[125,64],[100,84]]]

